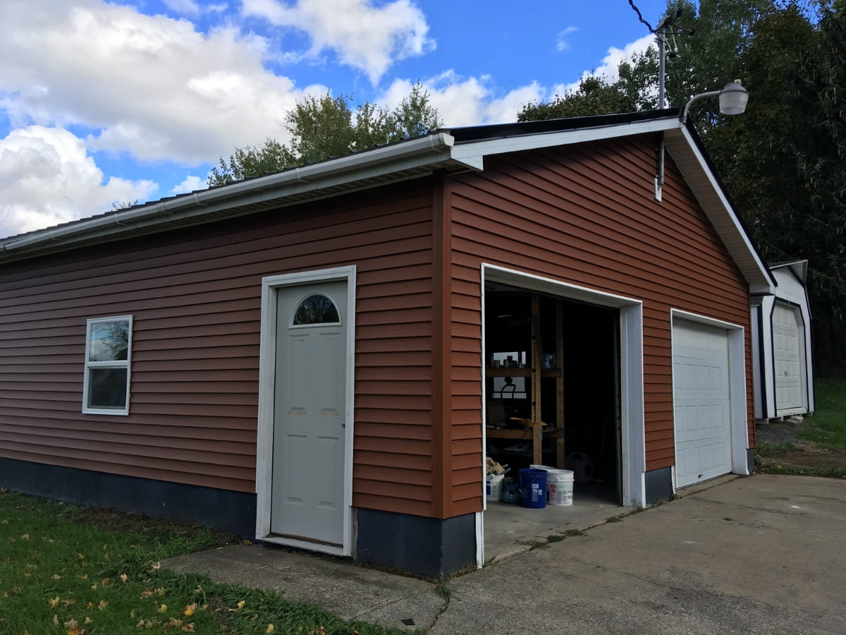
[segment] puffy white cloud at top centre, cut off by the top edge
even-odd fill
[[[359,69],[376,85],[394,60],[422,55],[435,47],[426,16],[409,0],[374,6],[372,0],[244,0],[243,13],[272,25],[305,31],[309,55],[325,50]]]

